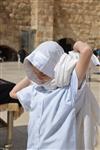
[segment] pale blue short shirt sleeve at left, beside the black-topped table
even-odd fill
[[[25,111],[31,110],[31,99],[34,93],[33,85],[30,85],[17,92],[17,97]]]

